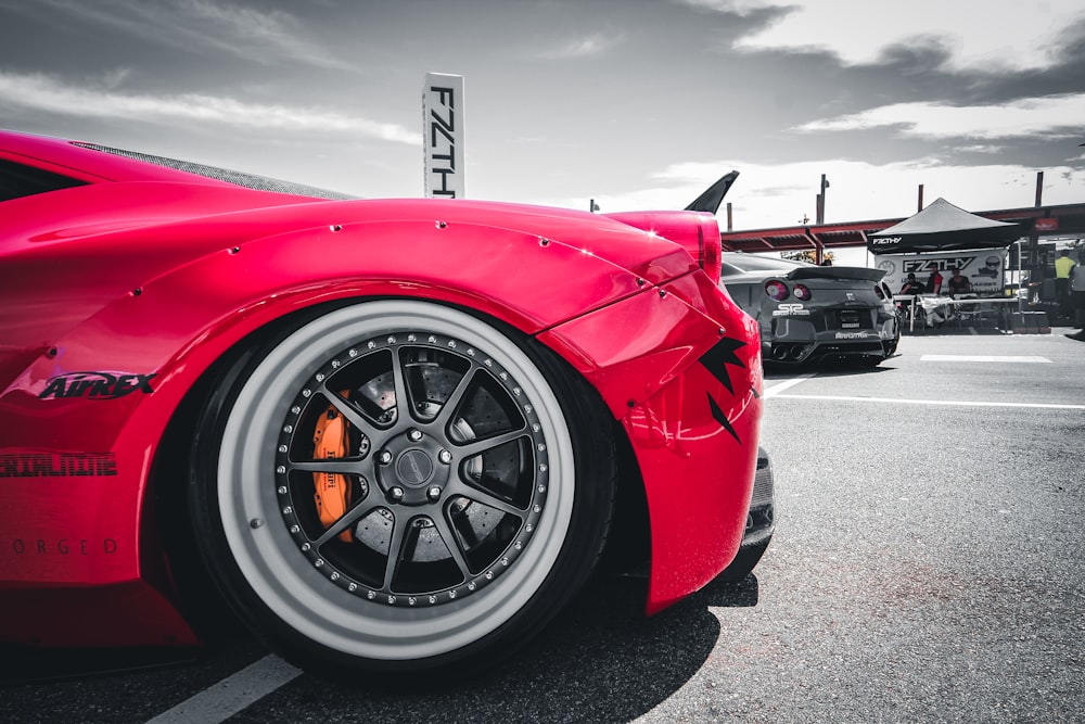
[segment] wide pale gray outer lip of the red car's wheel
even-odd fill
[[[484,589],[427,609],[394,609],[359,599],[331,583],[298,552],[275,493],[279,421],[305,381],[353,341],[390,330],[437,331],[487,351],[539,410],[550,454],[547,505],[520,559]],[[538,367],[498,332],[451,307],[376,301],[341,308],[303,326],[272,350],[244,384],[228,417],[218,462],[217,499],[227,544],[256,596],[288,626],[346,655],[411,660],[462,648],[512,619],[552,570],[569,532],[575,470],[562,408]],[[254,382],[255,381],[255,382]],[[264,420],[247,434],[247,420]],[[272,424],[273,422],[273,424]],[[234,490],[233,481],[240,481]],[[263,482],[261,482],[263,481]],[[263,521],[258,528],[252,521]]]

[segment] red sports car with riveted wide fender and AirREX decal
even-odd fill
[[[649,613],[736,559],[761,344],[711,213],[0,132],[0,219],[2,642],[197,645],[206,583],[301,665],[462,670],[604,544],[650,554]]]

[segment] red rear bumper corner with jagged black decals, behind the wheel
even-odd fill
[[[749,512],[761,345],[755,322],[723,294],[698,297],[712,317],[681,300],[706,284],[690,275],[662,295],[624,300],[539,335],[600,391],[640,463],[651,521],[649,613],[731,562]]]

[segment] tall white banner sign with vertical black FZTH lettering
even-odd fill
[[[463,199],[463,76],[425,74],[422,138],[425,195]]]

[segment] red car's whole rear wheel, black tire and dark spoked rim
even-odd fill
[[[306,460],[332,408],[349,457]],[[222,374],[197,430],[189,505],[212,579],[273,650],[326,675],[498,663],[584,584],[612,515],[597,393],[534,340],[446,305],[310,315]],[[329,528],[311,481],[339,471],[353,505]]]

